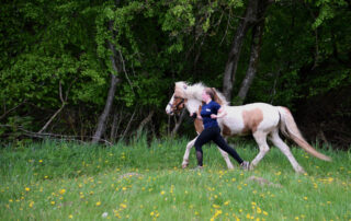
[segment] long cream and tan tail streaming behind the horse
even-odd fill
[[[301,148],[303,148],[309,154],[324,160],[331,161],[331,159],[322,153],[316,151],[301,135],[297,125],[294,120],[292,113],[286,107],[279,106],[279,114],[281,116],[280,129],[285,137],[291,138]]]

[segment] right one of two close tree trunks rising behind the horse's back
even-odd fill
[[[257,67],[259,63],[260,50],[262,45],[263,30],[264,30],[264,12],[269,3],[265,0],[260,0],[256,13],[256,20],[258,23],[252,28],[252,42],[251,42],[251,53],[249,67],[246,73],[245,79],[241,82],[241,86],[238,93],[238,103],[242,104],[247,93],[250,89],[250,85],[257,73]]]

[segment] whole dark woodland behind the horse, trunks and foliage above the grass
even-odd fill
[[[2,1],[0,139],[194,137],[174,82],[288,107],[310,142],[351,147],[346,0]]]

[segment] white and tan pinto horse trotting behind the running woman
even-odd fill
[[[176,82],[174,93],[166,107],[168,115],[181,112],[186,108],[189,113],[201,113],[202,91],[206,86],[203,83],[195,83],[193,85],[186,82]],[[281,139],[279,132],[281,131],[285,137],[292,139],[298,147],[303,148],[307,153],[324,160],[331,161],[331,159],[322,153],[316,151],[302,136],[299,129],[294,120],[294,117],[287,107],[273,106],[267,103],[252,103],[240,106],[229,106],[225,96],[216,89],[212,88],[215,94],[215,102],[226,109],[227,115],[223,118],[217,118],[224,138],[231,136],[248,136],[252,135],[258,147],[259,153],[250,163],[250,168],[256,167],[263,156],[269,152],[270,147],[267,143],[267,138],[278,147],[287,158],[296,173],[306,173],[305,170],[297,163],[292,154],[288,146]],[[195,119],[194,127],[197,136],[202,132],[202,120]],[[183,156],[182,167],[189,165],[189,154],[191,148],[194,146],[197,136],[186,144],[186,150]],[[228,154],[222,151],[227,167],[234,168]]]

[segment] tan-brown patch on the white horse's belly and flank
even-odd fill
[[[256,132],[258,126],[263,120],[263,113],[259,108],[242,111],[242,119],[244,119],[242,133],[247,133],[249,131]]]

